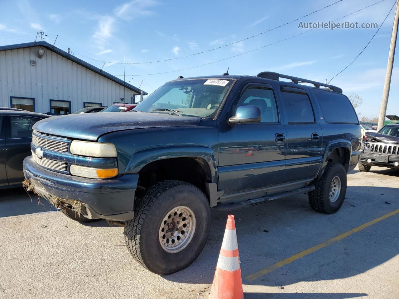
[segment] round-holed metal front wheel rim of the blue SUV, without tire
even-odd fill
[[[159,242],[169,253],[182,251],[190,244],[196,230],[196,216],[192,209],[179,206],[170,210],[159,228]]]

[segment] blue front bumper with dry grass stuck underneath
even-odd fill
[[[77,200],[86,208],[87,218],[125,221],[133,218],[134,193],[138,174],[124,174],[113,179],[86,179],[57,173],[24,159],[24,175],[44,198]]]

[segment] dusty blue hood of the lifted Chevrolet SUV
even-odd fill
[[[97,140],[110,132],[175,126],[198,126],[201,118],[148,112],[69,114],[43,119],[33,129],[50,135]]]

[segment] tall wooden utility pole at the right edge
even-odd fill
[[[399,24],[399,0],[396,1],[395,18],[393,19],[393,28],[391,35],[391,46],[389,47],[387,73],[385,74],[384,91],[382,93],[381,108],[379,110],[378,129],[384,126],[385,114],[387,113],[387,104],[389,96],[389,87],[391,86],[393,59],[395,57],[396,38]]]

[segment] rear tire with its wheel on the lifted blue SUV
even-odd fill
[[[328,163],[320,179],[313,182],[316,187],[309,192],[309,204],[317,212],[333,214],[338,211],[346,194],[346,171],[340,163]]]

